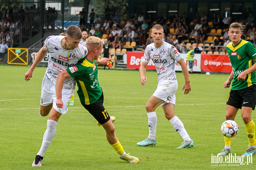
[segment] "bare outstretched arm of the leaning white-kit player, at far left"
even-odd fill
[[[25,80],[30,80],[30,77],[32,77],[33,71],[36,68],[36,66],[45,58],[46,54],[48,53],[48,50],[45,50],[44,47],[42,47],[38,54],[36,55],[36,59],[34,63],[31,65],[30,69],[25,73]]]

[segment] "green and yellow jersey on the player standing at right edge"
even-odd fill
[[[255,62],[253,59],[256,58],[256,49],[251,42],[242,40],[236,45],[233,46],[230,42],[226,46],[228,57],[230,59],[232,69],[234,72],[232,90],[240,90],[256,84],[255,72],[249,73],[246,76],[245,81],[237,80],[238,75],[244,70],[250,68]]]

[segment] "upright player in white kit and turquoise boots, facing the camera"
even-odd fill
[[[150,35],[153,37],[154,42],[146,46],[145,49],[140,67],[141,84],[144,86],[147,81],[147,78],[145,77],[146,67],[151,58],[156,66],[158,86],[154,94],[146,103],[149,135],[144,141],[137,143],[137,145],[156,145],[157,118],[155,109],[161,105],[164,110],[165,117],[169,120],[174,129],[177,131],[177,133],[179,133],[179,135],[181,135],[184,140],[181,146],[177,148],[190,148],[194,146],[194,142],[187,134],[187,131],[185,130],[181,120],[179,120],[179,118],[174,114],[174,106],[176,101],[175,92],[178,88],[174,68],[175,61],[181,66],[185,78],[185,85],[182,88],[182,90],[184,90],[184,94],[188,94],[191,91],[187,65],[174,46],[162,41],[162,38],[164,37],[164,29],[161,25],[154,25]]]

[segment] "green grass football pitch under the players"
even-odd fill
[[[41,82],[46,67],[37,67],[31,80],[26,82],[24,73],[28,69],[0,66],[0,169],[38,169],[31,164],[40,149],[48,120],[48,116],[39,115]],[[220,167],[229,163],[211,163],[211,154],[217,156],[224,148],[220,126],[225,121],[225,103],[230,92],[230,88],[223,87],[228,75],[192,74],[192,90],[184,95],[181,91],[183,74],[176,73],[179,87],[175,113],[195,142],[189,149],[176,149],[183,140],[165,118],[161,107],[156,109],[156,146],[136,145],[148,136],[144,106],[157,86],[155,71],[146,72],[145,86],[140,84],[139,71],[99,69],[98,75],[104,106],[117,118],[116,135],[125,152],[138,157],[140,162],[131,164],[119,158],[106,140],[102,126],[97,126],[97,121],[82,107],[75,93],[75,105],[68,107],[67,114],[59,119],[57,133],[40,169],[230,169],[230,166]],[[256,120],[255,111],[252,119]],[[235,121],[239,132],[232,139],[231,153],[241,156],[248,147],[241,110]],[[255,155],[252,162],[249,165],[238,163],[239,166],[232,166],[232,169],[254,169]]]

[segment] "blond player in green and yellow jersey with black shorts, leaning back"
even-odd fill
[[[98,37],[89,37],[86,43],[88,54],[85,58],[73,67],[69,67],[57,76],[56,80],[56,105],[58,108],[63,108],[63,96],[61,91],[66,78],[75,77],[80,102],[82,106],[92,114],[92,116],[103,126],[106,131],[106,137],[110,145],[119,154],[121,160],[130,163],[138,163],[139,159],[126,154],[123,146],[118,141],[115,135],[115,128],[110,119],[110,116],[103,106],[104,95],[98,82],[98,67],[96,60],[102,53],[104,40]]]

